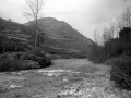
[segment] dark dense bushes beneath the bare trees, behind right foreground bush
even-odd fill
[[[129,35],[130,34],[130,35]],[[123,35],[123,36],[121,36]],[[88,59],[94,62],[105,62],[108,59],[120,56],[131,57],[131,28],[124,27],[120,30],[120,37],[106,41],[103,46],[94,44],[91,46]]]

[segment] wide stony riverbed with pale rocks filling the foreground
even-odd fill
[[[0,73],[0,98],[129,98],[109,81],[109,66],[55,60],[48,69]]]

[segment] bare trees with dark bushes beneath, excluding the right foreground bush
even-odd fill
[[[110,27],[105,27],[99,34],[94,30],[95,44],[91,46],[88,59],[96,62],[105,62],[107,59],[119,57],[120,54],[129,52],[130,41],[124,41],[119,38],[120,33],[124,34],[131,28],[131,7],[110,24]],[[130,33],[128,33],[130,35]],[[126,38],[126,37],[123,37]]]

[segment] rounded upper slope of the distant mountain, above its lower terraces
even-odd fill
[[[29,26],[32,24],[25,23],[24,25]],[[72,28],[68,23],[57,21],[53,17],[39,19],[38,27],[51,39],[76,40],[87,45],[93,42],[76,29]]]

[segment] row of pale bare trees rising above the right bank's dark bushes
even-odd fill
[[[119,32],[123,27],[131,27],[131,7],[128,7],[121,16],[116,17],[110,24],[110,27],[105,27],[102,35],[95,29],[93,35],[94,41],[97,45],[104,45],[110,39],[119,38]]]

